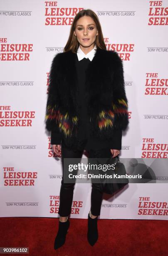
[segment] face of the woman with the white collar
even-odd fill
[[[74,35],[77,36],[77,41],[83,47],[91,46],[98,35],[96,23],[91,17],[83,16],[77,21]],[[88,40],[84,40],[85,38]]]

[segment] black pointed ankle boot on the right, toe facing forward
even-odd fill
[[[87,240],[91,246],[94,246],[94,244],[96,243],[96,241],[98,239],[97,217],[92,219],[90,217],[90,215],[88,214]]]

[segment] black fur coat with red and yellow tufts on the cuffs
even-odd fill
[[[114,129],[127,128],[123,63],[116,51],[96,50],[86,72],[85,96],[91,136],[110,139]],[[62,52],[54,56],[50,69],[45,127],[60,132],[67,146],[78,144],[78,110],[75,54]]]

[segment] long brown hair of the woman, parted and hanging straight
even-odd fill
[[[77,36],[74,35],[74,30],[76,28],[76,24],[77,24],[77,20],[79,20],[81,17],[83,16],[90,16],[94,22],[96,23],[96,28],[98,30],[98,35],[96,36],[96,40],[95,40],[95,45],[100,49],[104,49],[106,50],[106,45],[104,44],[104,38],[103,38],[103,33],[101,31],[101,25],[99,22],[99,19],[96,15],[96,13],[94,13],[94,11],[87,9],[87,10],[81,10],[79,13],[77,13],[77,15],[75,16],[72,25],[71,25],[71,29],[70,29],[70,33],[69,33],[69,38],[67,41],[66,46],[64,47],[64,52],[66,51],[70,51],[72,50],[73,53],[77,53],[77,49],[79,47],[79,42],[77,41]]]

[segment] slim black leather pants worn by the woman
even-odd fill
[[[64,170],[64,158],[79,158],[79,163],[82,158],[83,150],[71,151],[64,143],[61,145],[62,152],[62,170]],[[105,149],[90,149],[88,150],[89,158],[109,158],[111,156],[110,148]],[[75,164],[77,164],[75,162]],[[64,173],[64,172],[63,172]],[[64,174],[61,181],[60,189],[60,200],[59,200],[59,211],[58,214],[62,217],[66,217],[71,213],[72,200],[74,194],[74,184],[75,183],[64,183]],[[103,192],[100,191],[98,183],[92,183],[91,189],[91,213],[93,215],[100,215],[101,202]]]

